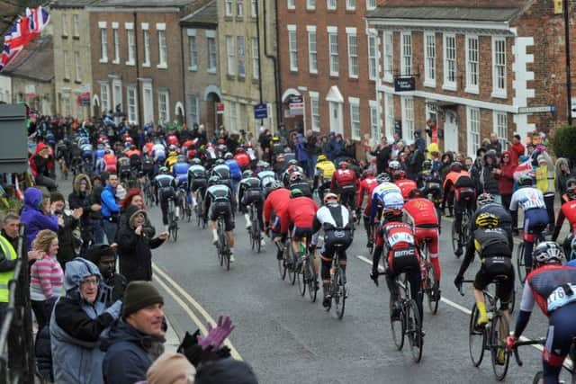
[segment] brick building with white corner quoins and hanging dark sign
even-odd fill
[[[411,142],[434,119],[441,148],[475,156],[491,132],[506,147],[514,132],[566,121],[563,16],[552,1],[389,0],[367,23],[378,34],[388,137],[397,129]],[[407,78],[413,90],[395,87]]]

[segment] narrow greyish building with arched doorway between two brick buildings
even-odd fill
[[[204,124],[209,134],[221,125],[216,103],[221,101],[218,5],[212,0],[184,16],[184,87],[187,123]]]

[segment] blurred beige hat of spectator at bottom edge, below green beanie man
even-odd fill
[[[193,384],[196,369],[182,353],[162,353],[150,365],[147,384]],[[144,384],[142,382],[142,384]]]

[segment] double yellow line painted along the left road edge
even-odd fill
[[[216,326],[216,321],[214,321],[210,314],[204,308],[202,308],[198,301],[193,299],[193,297],[170,276],[168,276],[166,272],[162,271],[155,263],[152,263],[152,269],[155,273],[154,281],[156,281],[163,290],[166,290],[172,299],[175,299],[175,302],[178,303],[182,309],[184,309],[184,312],[186,312],[194,324],[198,326],[198,329],[200,329],[200,332],[202,332],[203,335],[208,333],[208,329],[205,326],[206,323],[211,324],[211,326]],[[172,286],[174,290],[168,285]],[[175,291],[177,291],[177,293]],[[196,314],[193,312],[193,308],[200,314],[201,317],[203,317],[204,321],[196,316]],[[242,356],[240,356],[236,348],[234,348],[234,345],[230,343],[229,339],[226,339],[224,344],[229,347],[230,354],[234,359],[242,360]]]

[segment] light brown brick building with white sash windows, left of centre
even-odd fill
[[[90,13],[94,106],[140,125],[185,121],[180,19],[205,0],[102,0]]]

